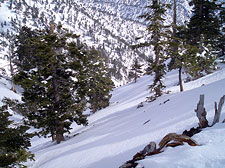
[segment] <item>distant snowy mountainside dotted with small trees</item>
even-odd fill
[[[21,26],[41,29],[54,21],[80,35],[82,42],[101,50],[108,58],[114,80],[123,84],[135,57],[145,62],[152,56],[148,48],[130,47],[135,44],[135,38],[147,38],[145,23],[138,18],[146,12],[147,4],[147,0],[3,0],[0,3],[1,57],[8,55],[12,34],[18,33]],[[180,23],[188,19],[187,0],[178,1],[178,11]],[[168,11],[168,23],[171,15],[172,11]]]

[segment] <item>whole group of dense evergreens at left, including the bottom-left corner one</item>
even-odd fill
[[[96,112],[109,105],[113,88],[103,54],[83,45],[76,34],[61,25],[52,23],[47,30],[22,27],[15,46],[13,79],[23,93],[22,102],[12,103],[13,110],[24,116],[24,123],[11,129],[8,106],[0,107],[0,159],[4,160],[0,166],[19,165],[33,158],[26,151],[31,138],[26,131],[31,126],[38,129],[35,135],[64,141],[64,133],[70,132],[73,122],[88,124],[83,114],[86,108]],[[11,149],[7,143],[17,146]]]

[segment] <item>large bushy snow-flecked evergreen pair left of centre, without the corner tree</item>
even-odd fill
[[[88,124],[83,114],[88,102],[93,112],[109,105],[112,81],[99,55],[62,26],[55,30],[51,25],[48,32],[39,31],[27,40],[30,43],[21,46],[35,52],[17,53],[21,60],[32,58],[29,70],[17,64],[15,81],[24,89],[19,109],[28,125],[41,130],[40,135],[51,134],[60,143],[73,122]]]

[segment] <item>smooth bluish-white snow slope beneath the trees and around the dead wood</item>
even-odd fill
[[[170,94],[148,103],[145,100],[150,95],[148,85],[152,79],[153,76],[144,76],[137,83],[116,88],[110,106],[89,116],[87,127],[74,124],[67,140],[59,145],[52,143],[50,138],[33,138],[30,150],[36,161],[28,162],[28,167],[118,168],[149,142],[158,144],[167,133],[181,134],[186,129],[197,127],[194,110],[200,94],[205,94],[207,119],[211,124],[214,102],[225,94],[224,68],[185,83],[182,93],[177,86],[178,72],[169,72],[165,84]],[[141,102],[143,107],[137,108]],[[138,161],[137,167],[224,168],[225,123],[221,123],[224,118],[225,107],[220,123],[192,137],[200,146],[185,144],[166,148],[163,153]]]

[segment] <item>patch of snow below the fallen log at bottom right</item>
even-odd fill
[[[144,167],[167,168],[224,168],[225,139],[218,136],[225,133],[224,124],[217,124],[203,130],[193,138],[200,142],[200,146],[188,145],[168,148],[165,152],[140,161]]]

